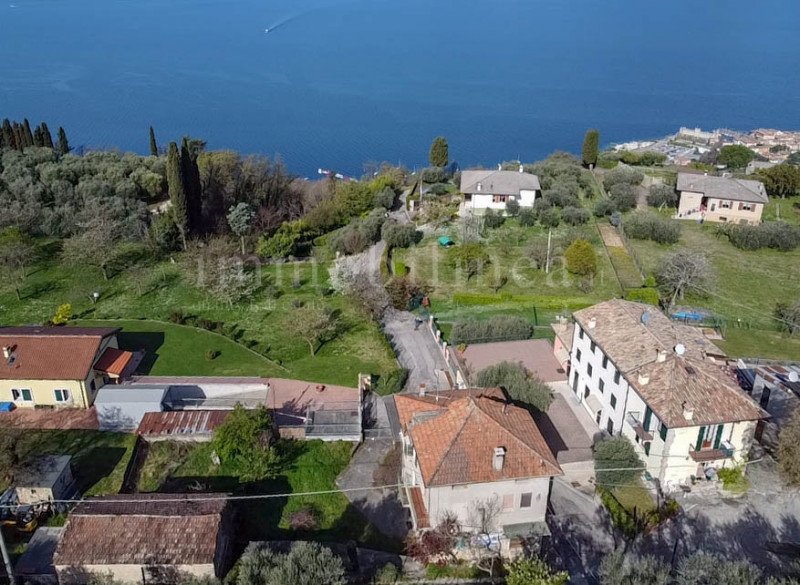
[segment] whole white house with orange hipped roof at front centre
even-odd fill
[[[504,550],[512,538],[548,534],[550,483],[562,472],[528,411],[499,388],[394,399],[416,530],[455,517],[462,531],[488,532]]]

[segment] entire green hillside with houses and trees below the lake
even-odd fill
[[[309,181],[44,129],[0,141],[9,582],[800,578],[796,143]]]

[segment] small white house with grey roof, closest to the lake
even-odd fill
[[[461,193],[464,201],[459,213],[483,214],[487,209],[505,213],[506,203],[516,201],[520,207],[533,207],[541,190],[539,177],[526,173],[522,166],[515,171],[463,171]]]

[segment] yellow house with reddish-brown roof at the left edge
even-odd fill
[[[119,328],[0,328],[0,403],[89,408],[97,391],[128,377],[141,352],[119,349]]]

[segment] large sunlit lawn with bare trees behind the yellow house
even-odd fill
[[[62,303],[70,303],[76,317],[87,322],[123,319],[124,326],[135,334],[128,337],[130,343],[158,346],[152,373],[269,374],[354,386],[359,372],[382,374],[397,367],[378,326],[348,299],[328,293],[325,263],[264,266],[260,269],[261,289],[252,299],[231,307],[194,286],[192,264],[181,255],[176,255],[175,263],[141,260],[117,269],[104,281],[97,269],[60,264],[58,243],[42,243],[41,252],[45,259],[29,269],[21,300],[12,282],[0,280],[3,321],[43,323]],[[95,291],[100,297],[93,304]],[[314,358],[305,341],[286,330],[295,305],[309,302],[324,303],[340,315],[335,339],[324,343]],[[272,363],[206,332],[138,321],[168,322],[178,311],[235,326],[239,341],[257,343]],[[163,339],[158,338],[159,333]],[[215,360],[206,360],[206,349],[222,353]]]

